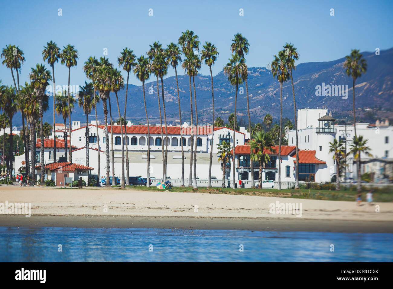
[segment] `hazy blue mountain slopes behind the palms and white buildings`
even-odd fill
[[[356,107],[384,107],[393,108],[393,48],[375,53],[363,52],[367,59],[367,72],[356,80]],[[329,62],[301,63],[293,72],[296,105],[302,107],[326,106],[336,113],[352,109],[352,79],[345,74],[343,69],[344,58]],[[171,68],[169,68],[171,69]],[[181,68],[178,69],[181,73]],[[213,77],[216,117],[221,116],[224,121],[228,119],[228,113],[233,112],[235,101],[235,88],[228,83],[227,77],[220,72]],[[180,104],[182,109],[182,121],[189,121],[190,99],[189,99],[189,77],[179,75],[178,83],[180,89]],[[340,96],[316,96],[316,86],[322,85],[348,85],[348,98]],[[160,83],[161,85],[161,83]],[[145,84],[147,111],[151,123],[159,123],[157,87],[154,77]],[[199,123],[211,122],[211,83],[210,75],[198,75],[195,77],[197,109]],[[237,112],[247,115],[246,88],[241,85],[243,94],[237,96]],[[161,93],[161,86],[159,88]],[[149,94],[149,91],[151,94]],[[279,118],[280,113],[280,91],[279,83],[272,77],[270,71],[264,67],[248,68],[248,92],[250,95],[250,113],[252,120],[263,118],[266,113]],[[173,123],[178,120],[178,102],[176,92],[176,78],[164,79],[165,109],[167,120]],[[241,92],[240,92],[241,93]],[[125,88],[118,92],[121,114],[124,109]],[[112,101],[112,118],[118,119],[116,97],[110,94]],[[51,105],[51,101],[49,102]],[[162,103],[161,103],[162,105]],[[145,123],[145,110],[143,106],[143,91],[141,86],[129,85],[127,100],[127,120]],[[44,114],[44,121],[52,121],[52,107]],[[97,110],[98,117],[103,120],[102,104]],[[92,112],[94,114],[94,112]],[[290,81],[283,86],[283,116],[293,119],[293,97]],[[194,110],[195,117],[195,110]],[[73,120],[84,122],[83,111],[78,107],[73,110]],[[90,117],[90,120],[92,117]],[[108,114],[109,120],[109,114]],[[58,122],[62,122],[59,118]],[[20,125],[20,114],[15,115],[13,123]]]

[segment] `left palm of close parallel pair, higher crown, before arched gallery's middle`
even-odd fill
[[[162,114],[161,114],[161,101],[160,101],[160,90],[158,88],[158,78],[160,77],[160,63],[159,63],[159,55],[161,55],[164,50],[161,47],[162,44],[160,42],[155,41],[153,44],[150,45],[150,50],[147,52],[147,56],[149,60],[151,60],[151,67],[152,72],[157,78],[157,99],[158,99],[158,109],[160,112],[160,127],[161,127],[161,146],[162,146],[162,180],[165,182],[165,153],[164,153],[164,136],[163,136],[163,129],[162,129]]]

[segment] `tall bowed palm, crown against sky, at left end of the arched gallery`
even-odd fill
[[[127,93],[128,93],[128,80],[130,76],[130,71],[136,65],[136,55],[133,53],[133,50],[129,50],[127,47],[123,49],[121,55],[118,57],[119,66],[123,68],[123,70],[127,71],[127,86],[125,88],[125,102],[124,102],[124,134],[125,139],[127,140],[127,127],[126,127],[126,117],[125,113],[127,110]],[[124,147],[121,147],[122,153],[124,152]],[[128,145],[125,146],[125,153],[126,153],[126,185],[130,184],[130,174],[129,174],[129,156],[128,156]],[[124,158],[121,162],[124,167]]]

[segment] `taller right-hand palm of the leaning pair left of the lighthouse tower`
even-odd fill
[[[292,83],[292,94],[294,96],[294,116],[295,116],[295,130],[296,130],[296,163],[295,163],[295,189],[299,188],[299,142],[298,142],[298,116],[296,112],[296,99],[295,99],[295,88],[294,79],[292,76],[292,69],[296,69],[295,60],[299,59],[299,53],[296,47],[291,43],[286,43],[283,46],[286,56],[286,67],[288,68],[291,75]]]

